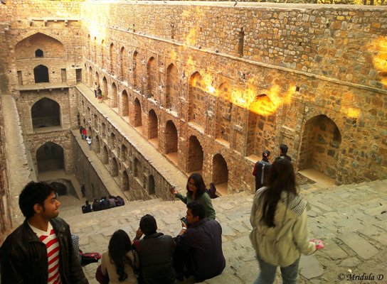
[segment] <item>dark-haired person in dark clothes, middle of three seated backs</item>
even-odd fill
[[[145,236],[140,239],[142,234]],[[133,246],[139,254],[139,283],[174,283],[173,256],[176,244],[171,236],[157,233],[153,216],[146,214],[141,218]]]

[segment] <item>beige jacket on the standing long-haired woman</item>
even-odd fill
[[[287,267],[303,254],[316,251],[316,245],[308,241],[307,201],[298,195],[282,192],[275,209],[275,227],[270,228],[260,221],[262,207],[261,193],[266,187],[255,192],[251,208],[250,223],[253,231],[250,240],[260,259],[273,266]]]

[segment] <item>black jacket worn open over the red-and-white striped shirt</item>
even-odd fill
[[[63,219],[51,219],[60,245],[59,271],[63,284],[87,284],[71,241],[70,226]],[[0,249],[1,283],[47,284],[48,258],[27,220],[10,234]]]

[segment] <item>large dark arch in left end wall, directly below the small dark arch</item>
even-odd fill
[[[31,107],[33,129],[60,126],[60,105],[53,99],[43,97]]]

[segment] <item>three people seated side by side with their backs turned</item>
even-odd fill
[[[125,231],[115,231],[102,254],[102,275],[108,275],[109,283],[138,280],[167,284],[191,276],[203,281],[221,274],[226,266],[222,228],[205,212],[199,202],[187,204],[188,222],[181,222],[181,231],[175,237],[158,232],[156,219],[150,214],[141,218],[133,241]]]

